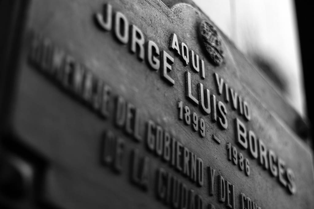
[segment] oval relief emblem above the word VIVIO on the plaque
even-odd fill
[[[217,30],[213,25],[203,20],[199,27],[199,33],[203,47],[208,53],[210,61],[214,65],[220,65],[224,60],[224,55]]]

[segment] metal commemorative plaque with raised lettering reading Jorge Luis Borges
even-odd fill
[[[7,125],[19,149],[3,147],[14,165],[35,153],[21,172],[36,203],[314,208],[295,110],[192,2],[24,11]]]

